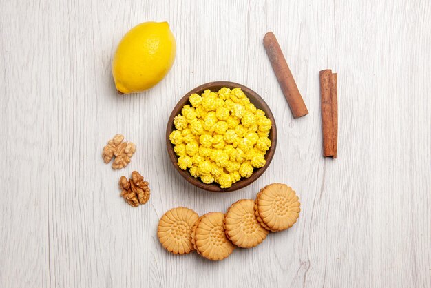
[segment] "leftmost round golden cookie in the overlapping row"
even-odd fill
[[[186,207],[170,209],[158,222],[158,240],[171,253],[190,253],[193,251],[191,227],[198,218],[199,215],[196,212]]]

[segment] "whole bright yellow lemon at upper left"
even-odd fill
[[[145,22],[121,39],[112,62],[117,90],[128,94],[147,90],[171,69],[176,42],[167,22]]]

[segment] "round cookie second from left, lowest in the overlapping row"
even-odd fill
[[[229,256],[235,246],[224,233],[224,214],[210,212],[200,217],[193,236],[196,251],[209,260],[222,260]]]

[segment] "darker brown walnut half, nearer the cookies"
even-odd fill
[[[137,171],[132,172],[132,178],[127,181],[125,176],[121,176],[119,181],[121,194],[124,200],[133,207],[145,204],[149,200],[150,190],[148,182]]]

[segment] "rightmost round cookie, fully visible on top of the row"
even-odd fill
[[[257,194],[255,214],[263,227],[277,232],[292,227],[299,217],[300,206],[299,198],[291,187],[273,183]]]

